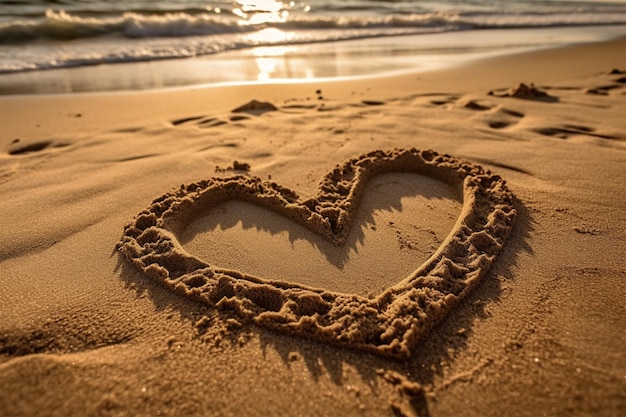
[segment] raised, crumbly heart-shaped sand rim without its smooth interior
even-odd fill
[[[463,191],[463,208],[437,251],[375,298],[221,269],[187,253],[176,238],[209,208],[238,199],[273,210],[342,245],[365,184],[388,172],[412,172],[458,186]],[[139,213],[125,227],[118,249],[175,293],[234,312],[244,321],[407,358],[490,268],[514,218],[513,196],[498,175],[430,150],[375,151],[338,165],[309,199],[256,177],[212,178],[183,185]]]

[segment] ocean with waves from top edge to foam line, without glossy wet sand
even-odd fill
[[[609,26],[626,34],[626,0],[0,0],[0,84],[25,72],[226,57],[259,47],[381,45],[433,34],[457,34],[463,43],[494,29],[571,34]]]

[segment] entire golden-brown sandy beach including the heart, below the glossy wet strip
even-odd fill
[[[624,48],[1,97],[0,415],[623,415]]]

